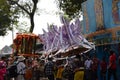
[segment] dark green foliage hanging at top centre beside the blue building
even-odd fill
[[[57,0],[59,8],[70,18],[81,15],[81,4],[86,0]]]

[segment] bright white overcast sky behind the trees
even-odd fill
[[[42,29],[47,30],[47,24],[61,25],[59,15],[55,13],[58,12],[57,6],[54,3],[54,0],[40,0],[38,3],[38,9],[41,12],[38,12],[40,15],[35,16],[35,28],[33,33],[36,35],[43,34]],[[28,19],[21,19],[26,21],[29,24]],[[14,30],[14,37],[16,36],[16,31]],[[9,46],[13,43],[12,32],[9,31],[8,34],[4,37],[0,36],[0,49],[5,45]]]

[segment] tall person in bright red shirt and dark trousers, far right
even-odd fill
[[[117,69],[116,55],[113,50],[110,50],[109,64],[108,64],[108,80],[111,80],[112,75],[114,80],[117,80],[116,69]]]

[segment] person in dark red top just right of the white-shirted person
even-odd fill
[[[98,65],[99,65],[99,59],[97,58],[96,54],[93,56],[92,59],[92,80],[98,80]]]

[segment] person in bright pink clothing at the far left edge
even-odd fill
[[[5,62],[0,60],[0,80],[4,80],[4,75],[6,74],[6,65]]]

